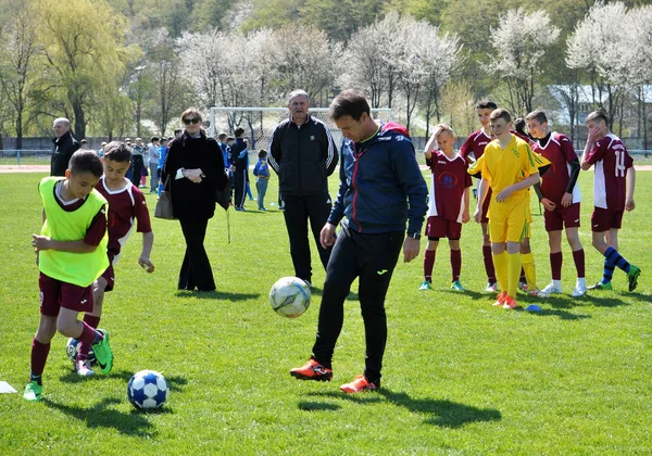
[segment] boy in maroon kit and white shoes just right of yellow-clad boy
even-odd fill
[[[526,116],[527,128],[536,139],[532,152],[548,159],[552,166],[541,176],[541,204],[548,242],[550,244],[550,269],[552,282],[543,289],[546,294],[562,293],[562,229],[566,229],[566,239],[573,251],[577,270],[577,281],[572,295],[584,296],[587,292],[585,279],[585,252],[579,241],[580,201],[579,159],[568,137],[550,131],[548,117],[542,111],[532,111]]]

